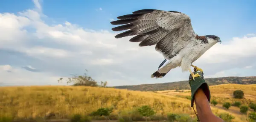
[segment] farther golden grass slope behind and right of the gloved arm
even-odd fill
[[[211,92],[211,100],[216,100],[218,105],[211,105],[213,113],[226,112],[235,116],[235,122],[246,122],[246,115],[240,113],[238,107],[231,106],[228,110],[222,107],[225,102],[231,104],[235,101],[240,101],[242,105],[249,105],[250,102],[256,103],[256,84],[241,85],[241,84],[221,84],[209,86]],[[244,92],[243,99],[233,98],[233,91],[242,90]],[[179,90],[183,91],[183,90]],[[186,91],[186,90],[184,90]],[[170,96],[182,97],[191,96],[191,92],[175,92],[175,90],[157,91],[160,94],[168,94]],[[249,110],[248,113],[252,112]]]

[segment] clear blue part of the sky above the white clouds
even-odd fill
[[[68,21],[95,30],[111,31],[114,26],[109,23],[110,19],[140,9],[181,11],[191,17],[199,35],[214,33],[225,40],[256,32],[255,5],[255,0],[41,0],[44,14],[55,21]],[[33,7],[31,0],[2,0],[0,12],[17,13]],[[99,8],[102,11],[96,11]]]

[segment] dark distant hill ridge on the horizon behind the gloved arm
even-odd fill
[[[223,77],[223,78],[205,78],[209,86],[236,83],[236,84],[256,84],[256,76],[250,77]],[[141,84],[132,86],[114,86],[117,89],[129,89],[136,91],[163,91],[163,90],[179,90],[190,89],[188,80],[172,82],[172,83],[156,83],[156,84]]]

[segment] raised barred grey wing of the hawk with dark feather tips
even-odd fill
[[[133,14],[117,17],[119,20],[112,25],[113,31],[125,31],[115,38],[134,36],[130,42],[140,42],[139,46],[155,45],[155,50],[162,53],[164,58],[171,59],[193,37],[197,36],[192,28],[190,17],[177,11],[162,11],[143,9]]]

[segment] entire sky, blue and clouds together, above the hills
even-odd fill
[[[180,11],[194,31],[216,35],[197,61],[206,78],[256,76],[255,0],[1,0],[0,86],[65,85],[85,69],[108,86],[188,80],[180,67],[151,78],[163,56],[131,37],[115,39],[110,22],[140,9]],[[64,80],[65,81],[65,80]]]

